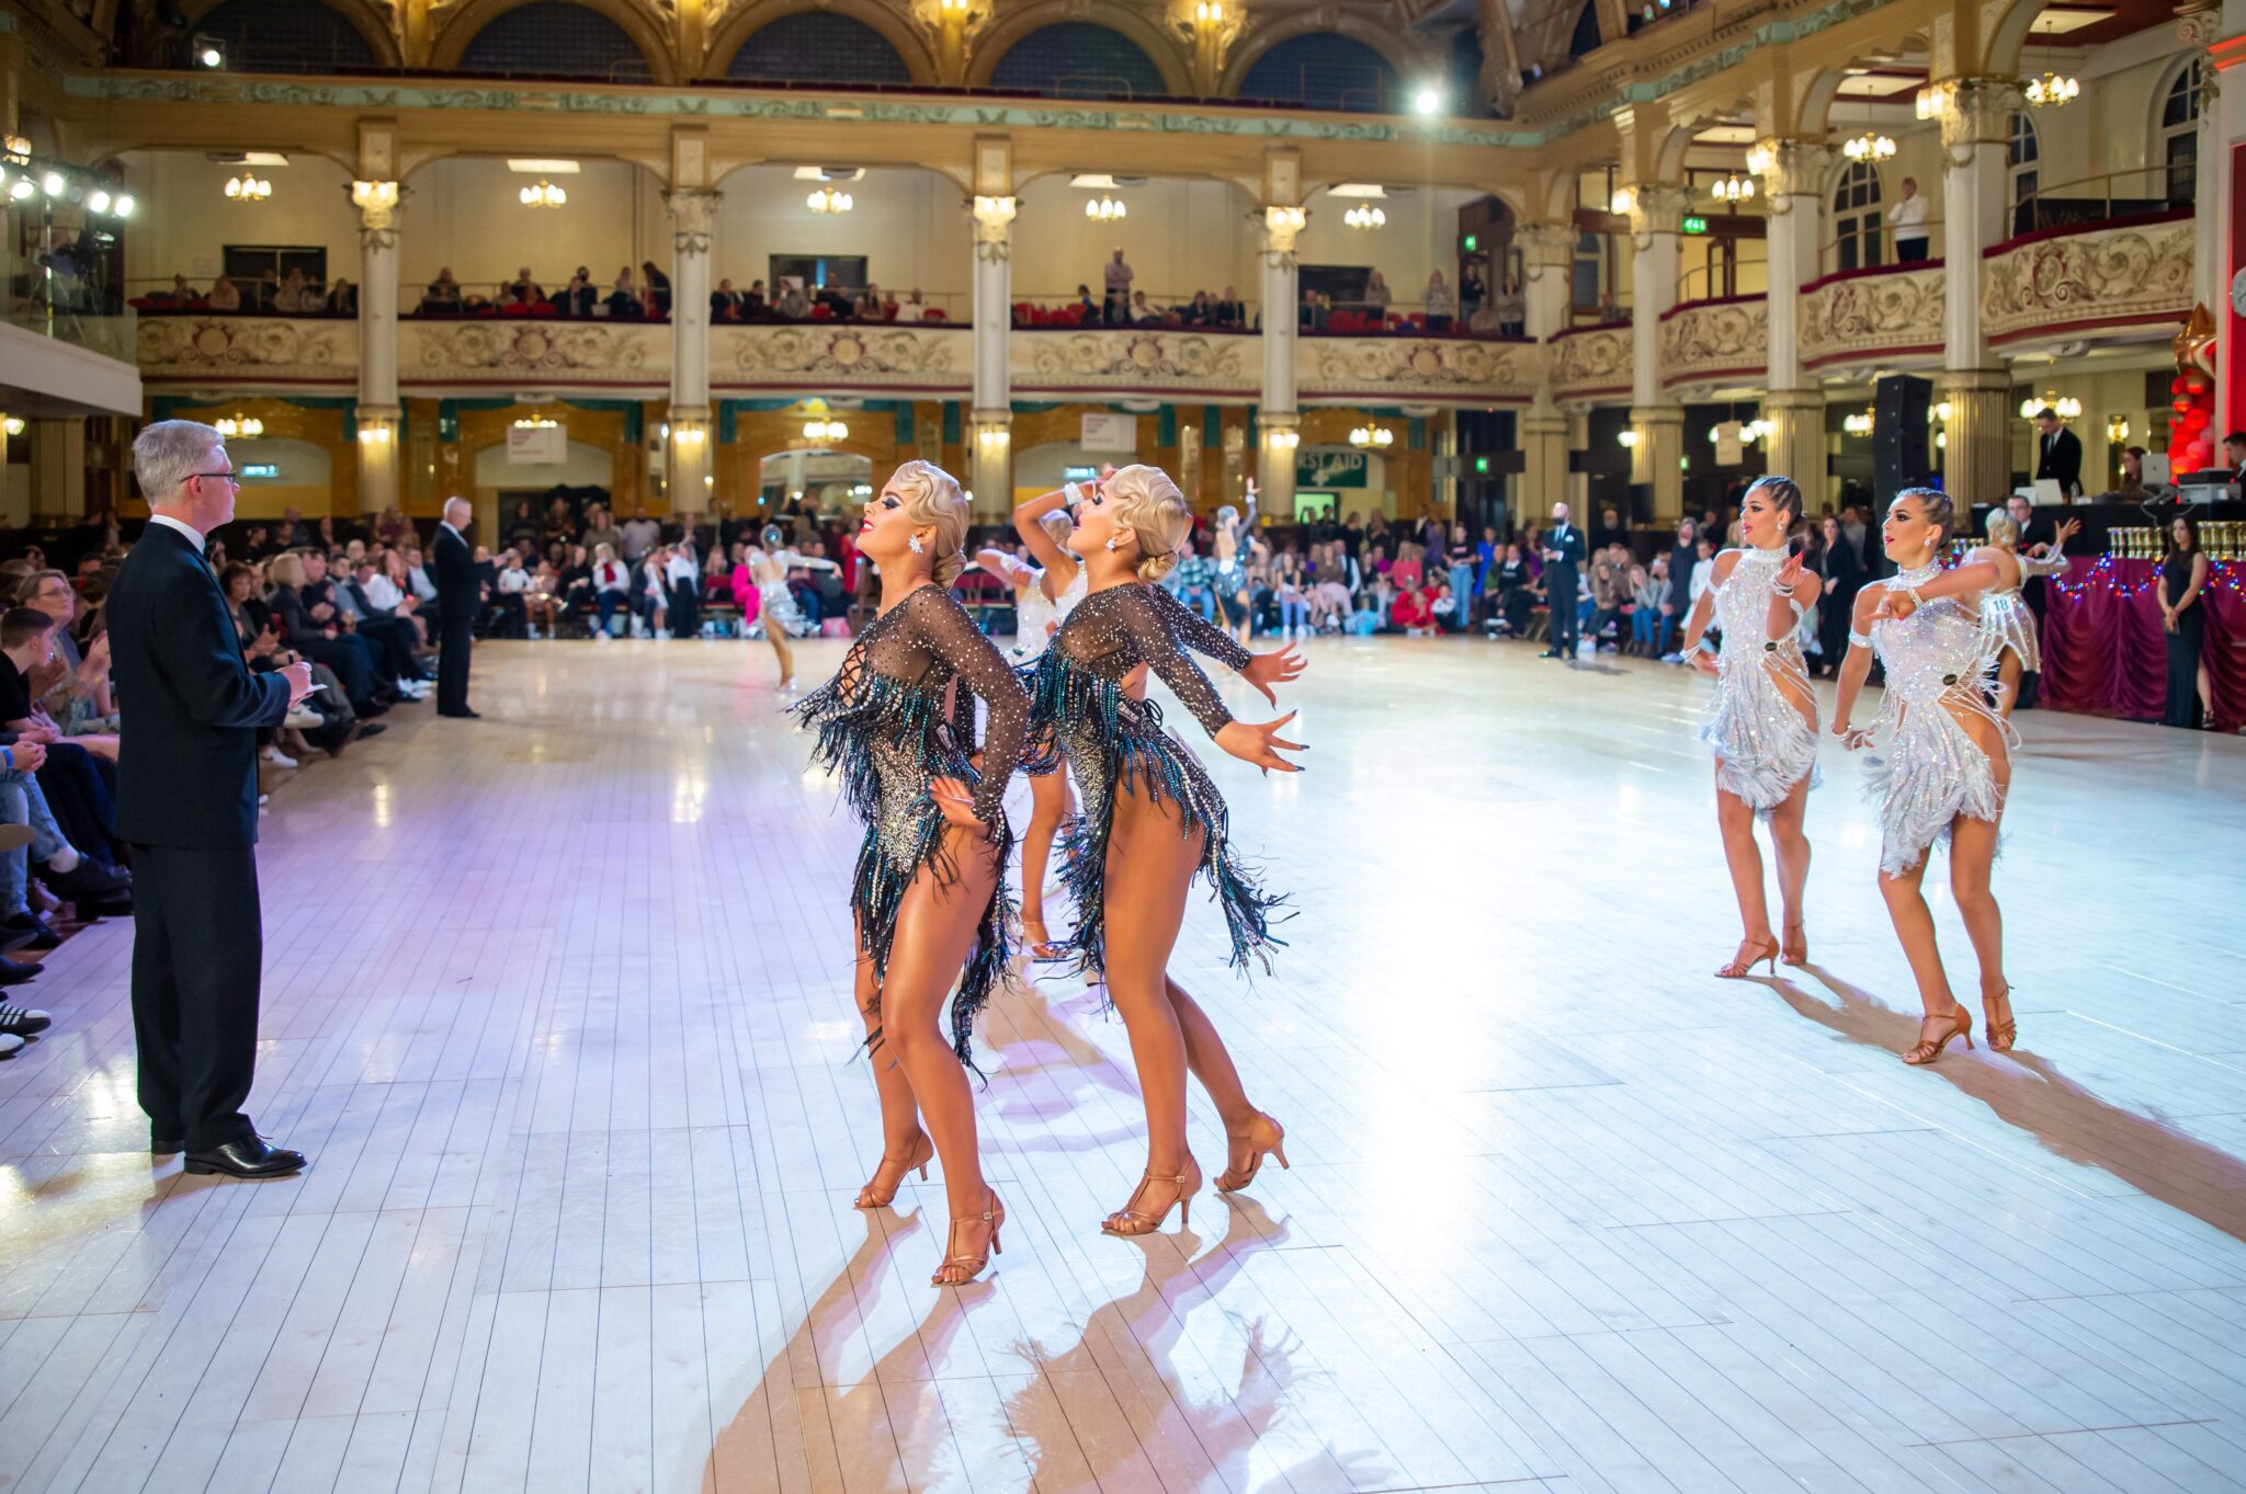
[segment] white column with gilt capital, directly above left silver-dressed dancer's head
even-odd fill
[[[1763,229],[1770,258],[1770,471],[1799,482],[1813,507],[1828,498],[1824,388],[1801,372],[1801,287],[1817,278],[1830,155],[1817,141],[1765,139],[1747,157],[1750,168],[1761,173],[1770,202]]]

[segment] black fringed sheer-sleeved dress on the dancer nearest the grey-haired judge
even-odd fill
[[[952,686],[946,716],[946,686]],[[975,695],[990,711],[984,772],[968,765],[975,751]],[[1029,698],[999,651],[966,608],[941,585],[923,585],[876,617],[851,644],[842,668],[793,707],[795,720],[818,734],[811,760],[842,774],[842,799],[865,823],[851,911],[858,940],[874,960],[876,1000],[889,971],[889,940],[905,888],[921,868],[939,884],[959,877],[943,846],[948,821],[928,794],[930,778],[975,785],[975,817],[990,826],[999,879],[984,909],[975,951],[952,1000],[952,1052],[973,1068],[975,1014],[1008,958],[1006,861],[1013,834],[999,799],[1022,758]],[[880,1034],[867,1048],[878,1048]]]

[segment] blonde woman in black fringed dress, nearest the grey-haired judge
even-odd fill
[[[925,1178],[930,1158],[943,1158],[952,1227],[932,1285],[982,1274],[1006,1223],[982,1175],[966,1068],[975,1014],[1006,967],[1011,837],[999,801],[1022,758],[1029,700],[950,594],[966,532],[957,478],[930,462],[896,469],[858,529],[858,552],[880,568],[880,615],[836,677],[795,704],[820,738],[813,760],[842,774],[865,823],[851,893],[856,1000],[883,1155],[858,1207],[889,1205],[907,1171]],[[979,776],[975,695],[990,709]],[[939,1018],[955,980],[946,1043]]]

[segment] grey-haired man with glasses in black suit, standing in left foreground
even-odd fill
[[[117,832],[133,846],[133,1034],[155,1153],[186,1171],[279,1178],[243,1104],[256,1072],[258,729],[312,689],[312,666],[252,673],[202,559],[234,518],[234,462],[211,426],[159,419],[133,442],[153,518],[110,588],[110,668],[124,702]]]

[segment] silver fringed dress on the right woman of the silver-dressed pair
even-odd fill
[[[1884,581],[1900,592],[1941,574],[1938,565],[1896,572]],[[1905,619],[1871,624],[1869,642],[1887,666],[1887,698],[1873,731],[1880,756],[1866,763],[1866,796],[1880,805],[1880,870],[1900,877],[1950,839],[1950,823],[2003,812],[1997,765],[1965,731],[1961,718],[1994,729],[1997,749],[2010,756],[2012,729],[1990,704],[1997,660],[1979,608],[1936,597]]]

